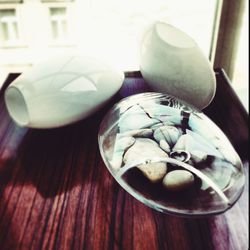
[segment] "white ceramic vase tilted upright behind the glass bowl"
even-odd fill
[[[166,23],[156,22],[145,32],[140,68],[154,91],[199,109],[214,97],[216,82],[208,59],[191,37]]]

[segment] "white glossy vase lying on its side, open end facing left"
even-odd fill
[[[88,56],[57,56],[35,65],[6,90],[10,116],[21,125],[53,128],[83,119],[121,87],[122,72]]]

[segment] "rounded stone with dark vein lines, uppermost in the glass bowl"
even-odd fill
[[[166,140],[170,147],[174,146],[180,137],[180,131],[174,126],[162,126],[155,130],[154,138],[158,142]]]

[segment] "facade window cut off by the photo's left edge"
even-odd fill
[[[4,45],[14,45],[19,40],[15,9],[0,10],[0,39]]]

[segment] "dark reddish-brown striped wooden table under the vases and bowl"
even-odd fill
[[[180,218],[156,212],[125,192],[106,169],[97,134],[122,97],[147,91],[139,72],[99,113],[58,129],[16,126],[0,92],[0,249],[248,249],[248,184],[224,214]],[[248,175],[248,114],[223,70],[204,112],[238,151]],[[247,178],[248,179],[248,178]]]

